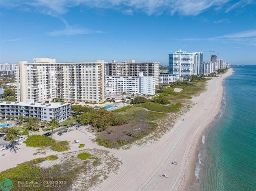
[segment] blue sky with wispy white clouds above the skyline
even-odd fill
[[[0,0],[0,63],[96,60],[168,63],[219,53],[256,64],[255,0]]]

